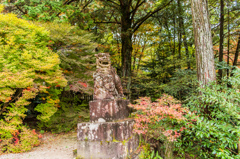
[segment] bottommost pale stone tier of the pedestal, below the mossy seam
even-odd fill
[[[84,159],[126,159],[138,146],[137,136],[123,141],[78,141],[77,155]]]

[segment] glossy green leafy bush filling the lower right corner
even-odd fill
[[[230,87],[231,85],[231,87]],[[190,124],[176,142],[180,154],[200,158],[240,158],[237,152],[240,137],[240,70],[221,84],[212,83],[199,89],[188,101]]]

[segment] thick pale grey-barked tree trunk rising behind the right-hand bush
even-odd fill
[[[192,17],[197,61],[197,75],[200,87],[216,80],[212,35],[207,0],[192,0]]]

